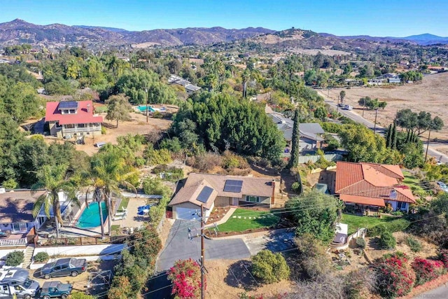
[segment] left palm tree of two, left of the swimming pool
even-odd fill
[[[44,165],[36,172],[37,183],[31,186],[31,194],[36,194],[38,190],[44,190],[44,193],[34,203],[33,216],[36,217],[43,207],[45,215],[50,218],[50,209],[52,209],[55,217],[56,237],[59,237],[59,223],[63,222],[58,193],[64,192],[67,200],[80,206],[76,198],[76,188],[73,182],[66,178],[66,170],[66,165]]]

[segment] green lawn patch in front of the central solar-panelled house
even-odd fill
[[[270,214],[267,211],[237,209],[226,223],[218,225],[218,229],[220,232],[242,232],[244,230],[267,228],[275,225],[277,222],[279,222],[279,216]]]

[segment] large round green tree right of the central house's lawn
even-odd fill
[[[311,190],[310,193],[288,200],[286,208],[291,210],[291,216],[297,226],[296,236],[311,234],[325,243],[330,243],[335,236],[335,225],[339,221],[342,208],[337,198]]]

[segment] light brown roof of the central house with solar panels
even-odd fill
[[[225,192],[225,181],[236,180],[242,181],[241,192]],[[200,174],[191,173],[188,175],[188,179],[185,185],[178,193],[173,197],[169,205],[179,204],[181,202],[192,202],[200,205],[201,202],[195,200],[195,197],[199,195],[202,188],[199,188],[201,183],[205,186],[210,186],[216,191],[216,196],[223,197],[243,197],[243,195],[254,196],[272,196],[272,179],[254,178],[249,176],[227,176],[223,174]]]

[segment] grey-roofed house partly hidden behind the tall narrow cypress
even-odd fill
[[[290,153],[291,141],[293,139],[293,126],[294,121],[290,118],[286,118],[283,114],[274,112],[269,106],[266,106],[265,113],[276,124],[277,128],[283,133],[283,137],[286,141],[285,153],[286,156]],[[321,137],[325,133],[321,125],[318,123],[300,123],[299,124],[300,138],[299,147],[300,152],[312,152],[321,148],[324,139]]]

